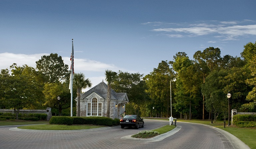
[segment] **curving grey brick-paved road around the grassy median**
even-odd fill
[[[249,148],[233,135],[211,126],[177,122],[179,131],[148,141],[129,139],[142,130],[152,130],[169,121],[145,119],[144,128],[120,126],[76,131],[17,131],[17,126],[0,127],[0,149],[239,149]],[[160,136],[160,135],[159,135]]]

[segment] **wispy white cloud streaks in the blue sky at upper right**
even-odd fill
[[[256,24],[252,25],[240,25],[250,20],[239,21],[209,21],[208,23],[202,22],[197,24],[172,24],[168,25],[171,28],[157,28],[152,31],[155,32],[167,32],[170,34],[164,34],[168,37],[195,37],[203,35],[213,35],[219,40],[236,40],[240,36],[255,36],[256,35]],[[253,22],[253,21],[250,21]],[[158,24],[161,26],[161,22],[148,22],[149,24]],[[163,23],[165,26],[167,23]],[[177,34],[178,33],[178,34]]]

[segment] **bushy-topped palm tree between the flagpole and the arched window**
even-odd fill
[[[85,79],[85,75],[83,73],[75,73],[74,79],[73,79],[73,86],[77,88],[76,94],[77,94],[77,113],[76,116],[80,116],[80,94],[82,89],[85,89],[87,87],[91,87],[92,83],[87,78]]]

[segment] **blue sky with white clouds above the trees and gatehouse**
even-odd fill
[[[0,69],[57,53],[92,87],[105,70],[147,75],[178,52],[240,57],[256,41],[255,0],[0,0]],[[70,69],[70,68],[69,68]],[[83,91],[87,91],[85,89]]]

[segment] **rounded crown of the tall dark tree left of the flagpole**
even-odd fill
[[[44,74],[45,82],[54,83],[69,78],[68,65],[65,65],[62,57],[57,53],[44,55],[36,61],[36,69]]]

